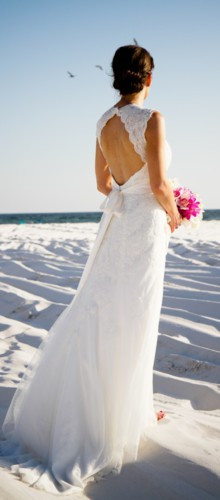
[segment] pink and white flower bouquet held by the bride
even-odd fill
[[[203,218],[203,205],[198,193],[179,185],[178,179],[169,179],[177,209],[182,217],[182,223],[188,227],[197,227]],[[170,217],[167,215],[167,222]]]

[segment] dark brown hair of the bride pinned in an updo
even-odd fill
[[[113,87],[121,95],[133,94],[143,89],[147,75],[152,73],[154,60],[150,53],[139,45],[119,47],[112,59]]]

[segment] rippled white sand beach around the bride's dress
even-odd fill
[[[0,424],[25,366],[75,293],[97,229],[0,226]],[[137,462],[71,498],[220,498],[219,245],[220,221],[171,235],[154,364],[155,410],[166,417],[141,443]],[[1,465],[1,500],[49,498]]]

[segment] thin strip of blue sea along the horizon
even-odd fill
[[[54,224],[66,222],[99,222],[102,212],[51,212],[0,214],[0,224]],[[203,220],[220,220],[220,209],[209,209]]]

